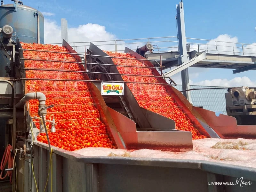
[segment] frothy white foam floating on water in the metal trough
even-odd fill
[[[109,148],[84,148],[74,152],[83,156],[205,160],[256,168],[256,140],[206,138],[193,140],[193,146],[193,150],[186,152],[167,152],[152,149],[130,151]]]

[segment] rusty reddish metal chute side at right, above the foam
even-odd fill
[[[236,118],[220,114],[202,108],[193,107],[201,114],[205,122],[223,139],[256,139],[256,125],[237,125]]]

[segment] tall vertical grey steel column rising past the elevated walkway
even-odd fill
[[[176,19],[177,19],[177,25],[178,25],[179,52],[180,52],[178,63],[179,65],[181,65],[189,61],[189,56],[187,54],[183,2],[180,2],[180,4],[176,5],[176,11],[177,11]],[[181,81],[182,81],[182,90],[190,89],[188,68],[181,71]],[[183,92],[183,95],[187,98],[189,102],[191,102],[190,92]]]

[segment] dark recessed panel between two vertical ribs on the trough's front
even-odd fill
[[[99,164],[99,183],[100,192],[207,191],[206,172],[195,169]]]

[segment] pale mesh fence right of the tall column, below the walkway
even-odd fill
[[[182,91],[181,85],[177,85],[174,87],[179,91]],[[196,107],[203,106],[204,109],[227,115],[226,99],[225,99],[225,93],[227,92],[227,88],[202,90],[202,88],[221,88],[221,87],[190,85],[190,89],[195,89],[195,88],[200,88],[201,90],[190,91],[191,100],[194,106]]]

